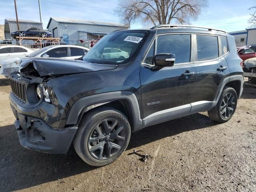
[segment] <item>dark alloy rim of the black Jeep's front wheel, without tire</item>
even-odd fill
[[[120,151],[124,140],[124,125],[114,118],[104,119],[90,133],[88,150],[94,158],[106,160]]]

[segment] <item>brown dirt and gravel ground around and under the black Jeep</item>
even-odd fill
[[[9,92],[0,79],[0,191],[256,191],[256,88],[248,84],[229,122],[217,124],[203,112],[150,126],[100,168],[73,147],[54,155],[20,146]],[[151,158],[142,162],[134,150]]]

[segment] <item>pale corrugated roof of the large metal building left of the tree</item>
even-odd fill
[[[103,26],[125,27],[124,24],[122,24],[122,23],[51,17],[49,22],[48,22],[47,28],[49,27],[50,22],[51,22],[52,19],[55,20],[56,22],[59,22],[59,23],[75,23],[75,24],[87,24],[87,25],[103,25]]]

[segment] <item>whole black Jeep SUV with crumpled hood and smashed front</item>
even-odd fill
[[[112,32],[81,60],[20,60],[9,76],[20,144],[64,154],[73,142],[104,166],[146,126],[203,111],[227,122],[243,90],[240,61],[233,36],[179,25]]]

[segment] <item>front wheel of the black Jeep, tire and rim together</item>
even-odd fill
[[[126,150],[130,135],[130,124],[124,114],[114,108],[100,107],[92,109],[82,118],[73,143],[84,162],[105,166]]]

